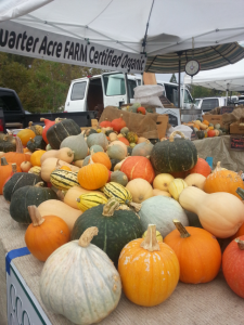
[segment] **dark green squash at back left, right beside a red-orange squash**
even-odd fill
[[[80,127],[73,119],[63,119],[47,131],[47,139],[53,150],[59,150],[61,142],[69,135],[78,135]]]

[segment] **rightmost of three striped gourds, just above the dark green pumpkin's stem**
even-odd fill
[[[107,197],[115,197],[121,204],[125,204],[126,200],[132,202],[130,192],[118,183],[106,183],[102,191]]]

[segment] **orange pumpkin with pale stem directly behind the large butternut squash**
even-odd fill
[[[220,161],[218,161],[216,169],[207,177],[204,184],[206,193],[227,192],[241,199],[236,193],[237,187],[244,190],[241,176],[234,171],[221,169]]]

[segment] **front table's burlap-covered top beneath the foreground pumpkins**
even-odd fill
[[[0,324],[7,325],[5,253],[12,249],[25,246],[24,235],[26,226],[20,225],[10,217],[9,204],[2,195],[0,196]],[[39,301],[50,323],[53,325],[70,325],[72,323],[65,317],[49,312],[41,302],[39,277],[43,263],[39,262],[31,255],[15,258],[12,260],[12,263],[14,263],[26,285],[37,301]],[[179,283],[169,299],[153,308],[136,306],[123,295],[115,311],[99,324],[241,325],[243,324],[243,318],[244,299],[231,291],[220,272],[217,278],[208,284],[187,285]],[[31,324],[37,323],[31,322]]]

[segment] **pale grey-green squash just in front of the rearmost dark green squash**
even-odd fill
[[[80,133],[78,135],[69,135],[69,136],[65,138],[61,142],[60,148],[62,148],[62,147],[70,148],[70,151],[74,153],[74,160],[80,160],[87,156],[88,145],[84,139],[82,133]],[[72,162],[72,161],[68,161],[68,162]]]

